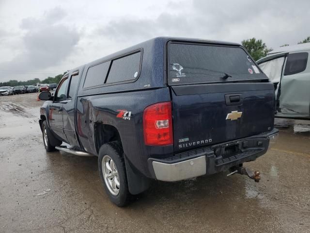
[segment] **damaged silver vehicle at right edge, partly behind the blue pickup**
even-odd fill
[[[276,117],[310,119],[310,43],[272,50],[257,61],[274,83]]]

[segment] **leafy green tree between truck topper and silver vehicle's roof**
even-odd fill
[[[272,50],[267,48],[266,44],[263,43],[263,40],[256,40],[254,37],[243,40],[241,44],[244,48],[246,48],[246,50],[248,50],[249,54],[255,61],[266,56],[266,54]]]

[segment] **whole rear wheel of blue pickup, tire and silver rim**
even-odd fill
[[[100,148],[98,169],[101,182],[110,201],[117,206],[126,205],[131,194],[128,190],[121,143],[109,142]]]

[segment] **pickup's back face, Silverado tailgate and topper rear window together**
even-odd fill
[[[176,151],[273,129],[273,83],[240,45],[171,41],[167,54]]]

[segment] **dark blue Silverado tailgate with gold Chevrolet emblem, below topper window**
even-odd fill
[[[273,129],[272,83],[194,84],[171,89],[175,151]]]

